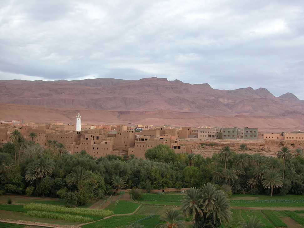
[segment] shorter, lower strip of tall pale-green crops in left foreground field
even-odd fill
[[[43,218],[43,219],[55,219],[55,220],[64,220],[64,221],[79,222],[79,223],[88,223],[93,221],[93,219],[89,217],[84,217],[80,215],[70,215],[70,214],[58,214],[48,211],[30,210],[28,212],[25,212],[24,215]]]

